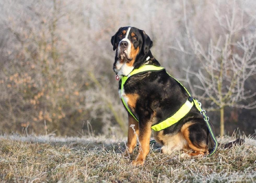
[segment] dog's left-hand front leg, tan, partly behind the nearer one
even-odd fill
[[[128,113],[128,121],[129,121],[128,141],[127,141],[127,148],[124,152],[125,157],[128,157],[129,154],[133,153],[134,147],[137,144],[137,136],[139,135],[139,122],[136,121],[130,113]],[[134,125],[133,127],[134,130],[132,129],[131,125]]]

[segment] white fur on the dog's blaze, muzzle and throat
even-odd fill
[[[131,27],[129,27],[126,31],[126,34],[125,34],[125,38],[123,38],[121,41],[127,41],[128,42],[128,46],[127,46],[127,49],[121,53],[121,48],[120,48],[120,42],[119,42],[119,45],[117,47],[117,56],[121,59],[123,59],[124,57],[127,57],[127,59],[131,59],[130,58],[130,54],[131,54],[131,41],[128,39],[128,36],[129,36],[129,33],[130,33],[130,30],[131,30]],[[116,63],[116,69],[115,72],[118,72],[118,75],[121,76],[121,75],[125,75],[127,76],[128,74],[131,73],[131,71],[133,70],[133,66],[128,66],[125,63],[120,63],[120,61],[118,60],[117,63]]]

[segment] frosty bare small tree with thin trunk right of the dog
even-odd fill
[[[232,14],[229,16],[219,14],[220,9],[216,9],[215,15],[219,26],[224,30],[217,41],[212,38],[208,44],[208,49],[195,38],[189,31],[186,15],[186,5],[184,2],[184,19],[188,40],[193,50],[193,54],[200,61],[198,72],[187,71],[187,81],[194,96],[199,99],[210,101],[210,110],[220,112],[220,135],[224,135],[224,109],[226,106],[254,109],[256,101],[250,102],[250,98],[256,92],[246,90],[245,85],[249,77],[256,74],[256,30],[245,31],[255,18],[244,22],[245,12],[237,13],[236,1],[232,2]],[[237,18],[240,21],[237,21]],[[255,28],[255,27],[254,27]],[[180,50],[183,50],[180,47]],[[201,85],[193,85],[202,90],[202,95],[196,95],[189,79],[189,74],[195,75]]]

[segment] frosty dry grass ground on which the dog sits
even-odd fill
[[[133,167],[123,158],[124,139],[99,137],[0,136],[0,181],[5,182],[228,182],[256,176],[256,140],[218,149],[211,157],[182,157],[150,151]],[[235,137],[218,138],[231,141]],[[136,152],[138,153],[138,148]]]

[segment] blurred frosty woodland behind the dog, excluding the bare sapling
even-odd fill
[[[191,54],[188,35],[207,51],[210,40],[230,33],[218,18],[232,20],[235,14],[234,26],[245,24],[233,32],[231,43],[241,41],[255,34],[255,8],[249,0],[1,1],[0,132],[126,135],[127,113],[118,96],[110,43],[119,27],[145,30],[156,59],[188,87],[185,69],[198,72],[201,65]],[[252,93],[255,81],[253,75],[246,82]],[[190,82],[199,81],[190,76]],[[219,113],[207,114],[218,134]],[[255,117],[255,109],[226,107],[225,133],[237,127],[254,133]]]

